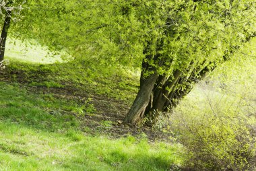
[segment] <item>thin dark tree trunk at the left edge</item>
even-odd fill
[[[3,23],[3,29],[0,38],[0,61],[3,61],[5,56],[5,43],[7,39],[7,33],[11,24],[11,10],[7,10],[5,14],[5,21]]]

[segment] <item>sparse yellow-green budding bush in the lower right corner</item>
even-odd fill
[[[254,92],[234,96],[228,90],[216,92],[205,83],[196,89],[171,118],[172,130],[187,149],[187,167],[255,170],[256,114],[250,98]]]

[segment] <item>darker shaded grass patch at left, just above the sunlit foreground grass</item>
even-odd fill
[[[79,125],[75,116],[61,110],[63,107],[72,110],[74,106],[57,100],[44,100],[44,96],[30,94],[18,84],[0,82],[0,87],[0,120],[3,122],[47,131],[75,128]]]

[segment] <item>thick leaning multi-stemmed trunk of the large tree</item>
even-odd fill
[[[189,94],[193,83],[203,78],[209,72],[209,63],[193,65],[190,63],[184,71],[173,71],[172,75],[158,75],[154,73],[144,77],[145,67],[142,67],[140,88],[125,117],[125,123],[137,125],[147,117],[147,125],[152,126],[158,119],[160,112],[171,111],[184,96]],[[196,67],[201,66],[201,67]]]

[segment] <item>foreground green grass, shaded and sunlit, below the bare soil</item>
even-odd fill
[[[168,170],[182,162],[179,144],[86,135],[71,114],[77,106],[18,83],[0,87],[0,170]]]

